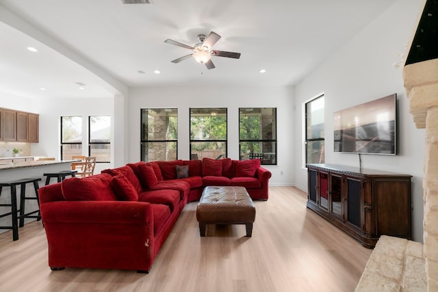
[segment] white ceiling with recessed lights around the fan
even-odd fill
[[[293,85],[396,2],[152,1],[0,0],[0,91],[106,97],[120,84]],[[194,59],[170,62],[191,51],[164,40],[192,46],[210,31],[222,36],[214,49],[242,53],[240,59],[212,57],[213,70]]]

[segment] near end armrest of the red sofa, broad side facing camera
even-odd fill
[[[57,201],[40,204],[49,267],[149,271],[157,254],[147,202]]]

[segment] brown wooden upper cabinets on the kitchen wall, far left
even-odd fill
[[[0,109],[0,141],[38,142],[38,114]]]

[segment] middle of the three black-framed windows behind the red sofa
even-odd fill
[[[227,157],[227,109],[190,109],[190,159]]]

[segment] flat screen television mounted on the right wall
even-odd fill
[[[397,154],[397,94],[334,114],[335,152]]]

